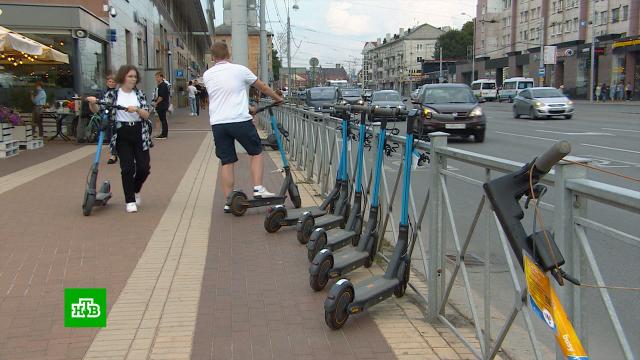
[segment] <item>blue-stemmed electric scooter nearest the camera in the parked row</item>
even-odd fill
[[[433,114],[432,112],[412,109],[392,109],[397,115],[407,116],[407,133],[404,158],[402,161],[402,201],[400,211],[400,225],[398,241],[391,261],[382,276],[374,276],[360,283],[351,283],[348,279],[338,280],[329,291],[324,302],[325,322],[334,330],[340,329],[346,323],[349,315],[365,309],[395,295],[402,297],[409,284],[411,272],[411,254],[417,236],[411,237],[409,242],[409,191],[411,184],[411,165],[413,155],[414,128],[422,116],[432,116],[437,120],[452,120],[451,115]]]

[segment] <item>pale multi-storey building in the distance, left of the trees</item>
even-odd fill
[[[398,34],[386,34],[368,51],[372,88],[394,89],[408,96],[422,78],[422,61],[432,59],[435,43],[444,32],[422,24]]]

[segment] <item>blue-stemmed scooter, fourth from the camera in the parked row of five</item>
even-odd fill
[[[349,113],[349,107],[355,108],[358,107],[362,111],[366,111],[365,106],[358,105],[335,105],[334,109],[342,113],[342,153],[341,161],[340,161],[340,169],[339,171],[342,173],[343,178],[348,178],[347,174],[347,146],[349,142],[349,121],[351,120],[351,114]],[[362,146],[363,143],[360,143],[359,146]],[[346,184],[343,184],[344,188],[340,190],[338,200],[336,201],[335,209],[330,214],[325,214],[322,216],[314,217],[311,213],[305,212],[299,218],[296,224],[296,232],[298,241],[301,244],[306,244],[309,242],[309,238],[311,236],[311,232],[316,227],[325,227],[327,229],[332,229],[334,227],[342,227],[344,228],[345,220],[349,216],[350,213],[350,204],[349,198],[350,192]],[[317,219],[317,220],[316,220]]]

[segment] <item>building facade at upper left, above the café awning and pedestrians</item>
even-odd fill
[[[189,6],[185,6],[185,2]],[[12,91],[28,97],[33,82],[44,83],[52,99],[88,95],[105,87],[105,76],[123,64],[142,73],[140,87],[151,95],[153,74],[163,71],[174,91],[206,69],[210,26],[200,0],[0,0],[0,23],[69,55],[70,64],[23,65]],[[5,69],[9,70],[9,69]]]

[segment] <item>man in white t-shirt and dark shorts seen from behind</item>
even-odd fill
[[[238,161],[235,141],[251,156],[251,178],[254,197],[273,197],[262,186],[262,142],[249,114],[247,88],[255,87],[276,102],[282,97],[258,80],[251,70],[229,62],[229,49],[224,42],[211,47],[215,65],[205,71],[204,85],[209,93],[209,123],[216,145],[216,156],[222,162],[220,183],[225,198],[233,190],[234,164]],[[225,205],[225,212],[229,207]]]

